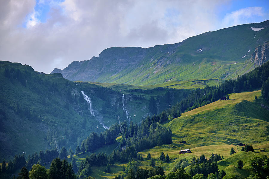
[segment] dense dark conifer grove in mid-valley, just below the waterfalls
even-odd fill
[[[172,131],[171,129],[162,128],[158,125],[160,119],[163,116],[153,115],[151,118],[147,117],[142,120],[138,126],[137,123],[130,123],[127,127],[126,121],[121,123],[123,132],[120,131],[120,124],[116,123],[112,125],[109,130],[100,134],[91,132],[91,134],[82,141],[81,146],[77,146],[76,154],[81,152],[93,152],[101,146],[112,143],[117,136],[122,135],[122,141],[120,143],[120,150],[122,147],[128,148],[133,146],[136,151],[141,151],[147,148],[160,146],[163,143],[172,143]],[[129,157],[129,154],[127,158]]]

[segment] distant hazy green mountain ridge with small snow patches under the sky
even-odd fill
[[[254,31],[251,27],[264,29]],[[177,44],[146,49],[112,47],[103,50],[98,57],[74,61],[64,70],[54,69],[52,73],[62,73],[72,81],[132,85],[234,78],[251,70],[254,61],[260,60],[258,53],[262,52],[258,51],[263,48],[255,50],[255,47],[269,40],[268,27],[269,21],[264,21],[203,33]]]

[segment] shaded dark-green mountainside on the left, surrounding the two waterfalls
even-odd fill
[[[82,92],[91,98],[93,116]],[[0,160],[15,154],[76,146],[90,132],[103,132],[105,126],[127,121],[124,104],[134,123],[152,115],[150,97],[158,95],[162,111],[180,101],[190,90],[163,87],[141,90],[114,90],[92,83],[68,81],[61,74],[45,75],[20,63],[0,61]],[[169,94],[170,101],[165,96]],[[134,117],[134,114],[136,115]]]

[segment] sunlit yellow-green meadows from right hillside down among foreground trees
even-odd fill
[[[224,157],[218,162],[219,169],[223,169],[228,175],[235,175],[238,179],[248,177],[256,172],[249,166],[249,161],[253,157],[268,156],[269,138],[268,128],[269,110],[262,107],[261,104],[268,106],[268,103],[260,97],[260,90],[253,92],[241,92],[230,94],[230,100],[216,101],[203,107],[196,108],[182,114],[181,117],[167,121],[166,126],[172,129],[172,144],[163,144],[151,149],[139,152],[144,157],[139,166],[150,168],[150,160],[146,160],[148,152],[156,160],[156,165],[162,166],[166,172],[172,168],[181,159],[186,158],[189,163],[193,157],[199,157],[204,154],[209,159],[212,152]],[[258,99],[254,97],[257,95]],[[110,153],[117,146],[117,141],[111,146],[107,146],[103,151]],[[187,144],[180,143],[187,141]],[[255,152],[241,152],[241,146],[235,146],[237,143],[247,143],[254,147]],[[230,155],[230,149],[233,147],[236,153]],[[192,153],[179,155],[179,150],[190,149]],[[168,154],[170,163],[164,163],[158,160],[161,152]],[[85,159],[89,153],[75,156],[77,165]],[[242,169],[237,168],[237,161],[241,159],[244,163]],[[91,177],[112,178],[115,175],[124,175],[123,165],[127,163],[116,163],[111,166],[111,173],[104,172],[104,167],[94,167]],[[188,170],[188,167],[185,168]]]

